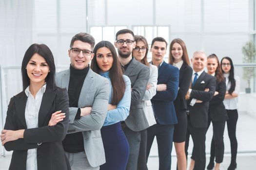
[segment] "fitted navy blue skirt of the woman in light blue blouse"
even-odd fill
[[[100,166],[100,170],[125,170],[129,158],[129,144],[120,122],[103,126],[100,131],[106,157],[106,163]]]

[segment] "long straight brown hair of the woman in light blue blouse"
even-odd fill
[[[120,100],[122,99],[122,97],[124,95],[125,82],[123,80],[123,76],[122,76],[123,69],[121,68],[121,65],[119,63],[117,51],[116,51],[115,47],[113,46],[113,44],[111,44],[111,42],[100,41],[95,46],[95,48],[93,50],[93,53],[95,53],[95,57],[92,59],[91,69],[96,73],[100,72],[100,68],[98,67],[96,58],[97,58],[98,49],[102,48],[102,47],[108,48],[112,53],[113,65],[112,65],[112,68],[110,68],[110,70],[109,70],[109,77],[110,77],[111,84],[112,84],[112,101],[110,104],[117,105],[118,102],[120,102]]]

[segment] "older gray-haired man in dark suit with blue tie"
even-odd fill
[[[185,152],[188,155],[189,136],[192,136],[194,147],[191,164],[193,170],[205,169],[205,135],[208,124],[209,101],[213,98],[216,88],[216,79],[204,72],[206,54],[203,51],[194,52],[192,87],[189,89],[190,99],[187,101],[188,129],[185,142]],[[194,168],[193,168],[194,166]]]

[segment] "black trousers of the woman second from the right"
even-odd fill
[[[224,141],[223,134],[225,129],[226,121],[213,121],[213,138],[211,143],[211,158],[214,159],[216,156],[216,163],[221,163],[224,156]],[[208,117],[208,127],[211,124],[211,119]]]

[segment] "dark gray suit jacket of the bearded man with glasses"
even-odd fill
[[[130,78],[132,86],[130,114],[125,120],[125,124],[135,132],[149,127],[141,104],[148,84],[149,72],[149,67],[141,64],[135,58],[124,72]]]

